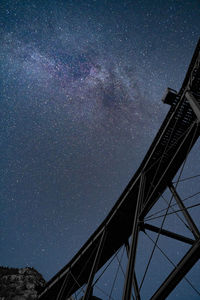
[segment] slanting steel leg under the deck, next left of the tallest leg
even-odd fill
[[[94,275],[97,271],[97,267],[98,267],[98,264],[99,264],[99,259],[101,257],[101,252],[102,252],[102,249],[103,249],[103,246],[104,246],[105,238],[106,238],[106,229],[104,229],[104,231],[102,232],[102,236],[101,236],[101,239],[99,241],[99,246],[98,246],[97,253],[96,253],[93,265],[92,265],[92,269],[91,269],[90,276],[89,276],[89,279],[88,279],[88,284],[87,284],[87,288],[86,288],[86,291],[85,291],[85,295],[83,296],[83,300],[89,300],[90,297],[91,297],[92,282],[93,282],[93,279],[94,279]]]

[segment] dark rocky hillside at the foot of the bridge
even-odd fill
[[[32,300],[45,284],[34,268],[0,267],[0,300]]]

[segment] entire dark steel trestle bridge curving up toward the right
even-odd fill
[[[68,299],[83,285],[81,299],[97,299],[92,295],[94,276],[124,245],[128,263],[120,299],[141,299],[135,264],[138,236],[147,230],[158,233],[158,237],[164,235],[190,245],[149,299],[166,299],[200,258],[200,231],[177,192],[177,184],[172,183],[200,134],[200,40],[180,91],[168,88],[163,102],[170,105],[169,112],[140,167],[102,224],[71,261],[47,282],[40,300]],[[145,222],[166,189],[171,191],[193,238],[163,229],[164,221],[160,227]],[[164,220],[169,207],[170,203]]]

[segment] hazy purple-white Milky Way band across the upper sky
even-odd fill
[[[138,126],[145,126],[142,120],[148,125],[156,104],[147,102],[139,86],[136,62],[131,66],[114,52],[108,58],[109,53],[106,55],[105,49],[101,53],[98,45],[83,49],[78,44],[71,49],[71,41],[64,38],[62,43],[47,41],[47,45],[24,42],[15,33],[4,35],[3,64],[5,71],[9,70],[6,84],[10,81],[14,89],[24,93],[28,106],[31,103],[39,113],[62,112],[66,119],[91,130],[113,133],[119,129],[121,134],[125,130],[131,138],[137,136]]]

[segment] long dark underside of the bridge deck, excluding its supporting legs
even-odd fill
[[[137,172],[103,223],[72,260],[47,283],[39,299],[56,299],[67,275],[65,291],[68,297],[87,281],[95,250],[105,228],[107,236],[98,269],[128,240],[132,231],[141,174],[145,176],[141,220],[167,188],[168,182],[172,181],[199,136],[196,116],[185,97],[187,90],[193,92],[200,102],[200,41],[183,85],[171,103],[171,108]]]

